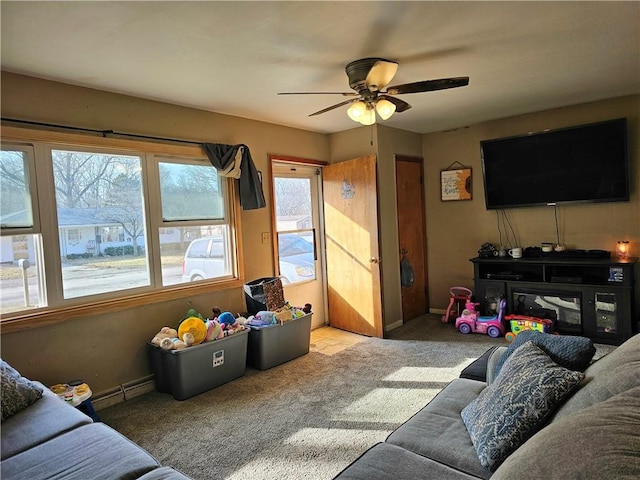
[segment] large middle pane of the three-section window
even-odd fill
[[[52,150],[51,159],[63,298],[151,285],[142,158]],[[101,235],[98,242],[104,228],[118,234]]]

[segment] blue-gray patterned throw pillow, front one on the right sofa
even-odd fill
[[[480,463],[494,471],[538,429],[584,378],[556,364],[532,342],[519,347],[502,373],[462,410]]]

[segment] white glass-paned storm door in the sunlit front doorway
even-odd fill
[[[316,166],[274,161],[272,176],[277,274],[289,303],[311,304],[311,328],[318,328],[328,323],[322,171]]]

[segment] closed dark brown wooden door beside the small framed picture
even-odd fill
[[[426,235],[422,159],[396,156],[396,195],[398,204],[398,240],[401,263],[402,320],[427,313],[429,302],[426,275]],[[407,267],[413,271],[407,281]]]

